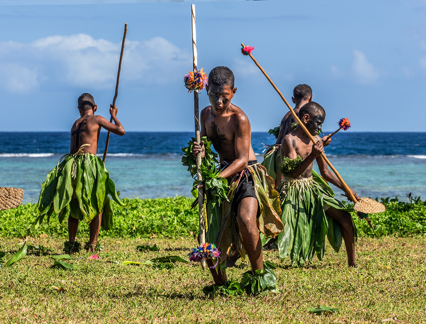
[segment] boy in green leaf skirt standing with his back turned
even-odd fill
[[[80,118],[71,128],[71,149],[63,156],[58,165],[49,172],[46,181],[41,185],[38,210],[40,215],[35,220],[39,226],[47,215],[49,221],[53,212],[58,213],[62,223],[67,214],[69,243],[65,244],[66,252],[73,253],[80,249],[76,244],[78,223],[85,220],[89,224],[89,252],[95,252],[99,229],[109,230],[113,225],[112,199],[124,205],[118,198],[114,182],[104,162],[96,156],[101,127],[117,135],[124,135],[124,128],[117,119],[117,107],[109,109],[115,124],[102,116],[95,116],[98,106],[89,93],[78,98]]]

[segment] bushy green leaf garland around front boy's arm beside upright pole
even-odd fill
[[[182,148],[182,152],[184,152],[182,165],[188,167],[187,171],[189,171],[193,179],[195,179],[197,174],[196,158],[192,155],[192,146],[195,141],[196,139],[192,138],[191,141],[188,142],[188,146]],[[217,153],[213,152],[211,148],[211,142],[207,141],[207,136],[201,137],[201,141],[204,141],[204,158],[201,159],[200,165],[202,180],[194,181],[193,188],[196,189],[199,183],[204,182],[206,191],[210,194],[208,199],[217,200],[220,205],[223,199],[229,201],[227,197],[229,185],[227,179],[219,176],[220,170],[216,165],[219,165],[220,162],[217,159]]]

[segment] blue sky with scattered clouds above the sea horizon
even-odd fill
[[[0,0],[11,3],[28,2]],[[242,42],[289,101],[296,84],[312,87],[325,130],[348,117],[350,131],[424,131],[425,1],[196,2],[196,18],[199,67],[233,70],[253,131],[287,108]],[[125,22],[118,118],[126,130],[193,130],[189,2],[1,6],[0,130],[69,130],[83,92],[109,119]]]

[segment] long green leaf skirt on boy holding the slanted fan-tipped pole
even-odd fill
[[[330,190],[312,176],[303,179],[283,178],[278,191],[282,197],[281,220],[284,223],[284,231],[278,235],[281,260],[290,257],[292,266],[302,266],[306,261],[311,261],[314,254],[322,260],[326,235],[334,251],[339,252],[342,229],[337,221],[325,215],[324,208],[330,206],[343,211],[353,209],[346,208],[339,200],[331,197]],[[357,239],[353,220],[352,225]]]

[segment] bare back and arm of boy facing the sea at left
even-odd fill
[[[111,108],[109,108],[109,113],[111,114],[115,124],[110,123],[102,116],[94,115],[97,107],[98,106],[95,105],[93,110],[81,110],[79,108],[81,117],[72,125],[71,148],[69,153],[74,154],[78,151],[81,145],[89,144],[91,146],[86,146],[83,150],[87,153],[96,155],[101,127],[104,127],[106,130],[109,130],[114,134],[124,135],[124,128],[117,119],[117,107],[114,106],[114,108],[112,108],[111,104]]]

